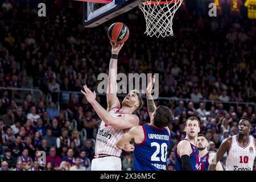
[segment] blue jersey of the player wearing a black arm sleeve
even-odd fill
[[[187,139],[184,139],[184,140],[187,140]],[[190,154],[190,157],[189,157],[191,166],[193,168],[193,171],[200,171],[200,155],[199,155],[199,150],[192,143],[190,143],[190,145],[191,145],[191,148],[192,148],[192,153]],[[175,151],[175,171],[183,171],[182,163],[181,163],[181,158],[177,154],[177,149]]]

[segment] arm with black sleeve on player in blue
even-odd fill
[[[181,141],[178,146],[178,154],[181,159],[183,171],[193,171],[189,156],[191,154],[191,145],[187,140]]]

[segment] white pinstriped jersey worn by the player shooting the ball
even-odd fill
[[[119,107],[113,107],[109,114],[113,117],[123,117],[129,115],[129,113],[119,112]],[[104,121],[101,121],[101,125],[98,129],[96,144],[95,144],[95,154],[108,154],[119,157],[122,150],[120,150],[115,143],[125,134],[125,130],[118,129],[116,127],[108,126]]]

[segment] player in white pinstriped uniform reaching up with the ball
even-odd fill
[[[137,90],[131,90],[122,101],[122,107],[117,98],[117,56],[123,44],[112,43],[112,58],[109,64],[108,92],[106,94],[108,109],[105,110],[97,101],[96,93],[92,92],[86,85],[82,94],[93,106],[98,116],[102,119],[96,137],[95,155],[92,160],[92,171],[121,171],[120,155],[122,150],[115,143],[131,127],[137,126],[139,118],[132,114],[141,109],[142,98]],[[126,150],[133,150],[129,143]]]

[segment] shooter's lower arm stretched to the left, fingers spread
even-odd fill
[[[81,90],[82,94],[84,94],[86,100],[93,106],[93,109],[106,125],[117,127],[119,129],[130,129],[133,126],[138,125],[139,118],[137,115],[126,115],[125,117],[122,117],[122,119],[113,117],[96,101],[95,91],[92,92],[86,85],[84,85],[84,90],[85,92]]]

